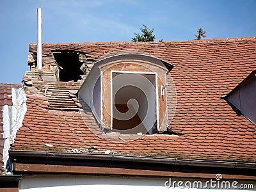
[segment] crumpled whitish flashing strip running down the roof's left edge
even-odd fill
[[[27,111],[26,100],[22,88],[12,88],[12,106],[3,106],[3,168],[6,175],[12,174],[12,168],[8,163],[9,150],[15,141],[17,131],[22,126]]]

